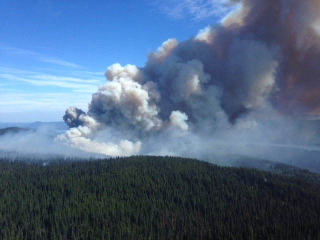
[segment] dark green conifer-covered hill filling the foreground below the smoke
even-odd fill
[[[195,159],[0,159],[0,239],[319,239],[320,184]]]

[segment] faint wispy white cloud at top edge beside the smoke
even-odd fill
[[[156,0],[151,4],[171,19],[191,17],[196,21],[209,17],[222,18],[234,9],[230,0]]]

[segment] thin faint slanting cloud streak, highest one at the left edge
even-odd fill
[[[7,46],[0,43],[0,52],[2,54],[16,56],[16,57],[28,57],[37,61],[52,63],[59,66],[82,68],[80,65],[65,61],[59,57],[49,56],[40,52],[31,51],[28,49],[22,49],[17,47]]]

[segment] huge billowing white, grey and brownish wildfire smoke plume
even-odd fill
[[[235,2],[220,25],[166,40],[144,67],[109,66],[88,111],[66,110],[57,139],[106,155],[309,143],[314,131],[303,135],[297,119],[320,114],[320,0]]]

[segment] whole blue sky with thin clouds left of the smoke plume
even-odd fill
[[[143,66],[168,38],[217,23],[227,0],[1,0],[0,122],[84,111],[113,63]]]

